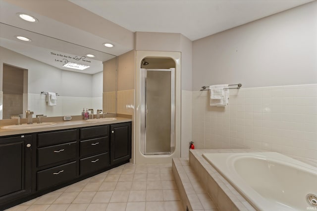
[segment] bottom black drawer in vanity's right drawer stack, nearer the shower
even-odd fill
[[[94,172],[109,166],[109,153],[103,153],[80,160],[80,175]]]

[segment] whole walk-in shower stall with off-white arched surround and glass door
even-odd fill
[[[170,164],[180,157],[180,59],[180,52],[136,51],[135,164]]]

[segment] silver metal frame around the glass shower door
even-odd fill
[[[170,71],[171,81],[170,81],[170,99],[171,99],[171,120],[170,120],[170,151],[169,152],[146,152],[146,116],[147,116],[147,105],[146,105],[146,80],[147,71]],[[170,155],[175,150],[175,68],[170,69],[140,69],[140,129],[141,129],[141,153],[143,155]]]

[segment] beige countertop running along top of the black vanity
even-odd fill
[[[106,122],[88,122],[86,120],[71,120],[71,121],[54,122],[56,123],[56,125],[48,126],[48,127],[31,128],[31,129],[0,129],[0,136],[52,131],[52,130],[58,130],[58,129],[70,129],[70,128],[77,128],[77,127],[110,125],[110,124],[126,123],[126,122],[132,121],[131,119],[124,118],[124,117],[115,117],[115,118],[116,120],[106,121]]]

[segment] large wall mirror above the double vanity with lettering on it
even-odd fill
[[[53,104],[48,92],[57,94]],[[83,108],[116,112],[116,57],[0,23],[0,119],[26,110],[81,115]]]

